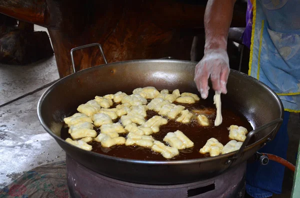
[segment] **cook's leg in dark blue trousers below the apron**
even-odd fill
[[[269,153],[286,159],[288,135],[287,123],[289,112],[284,112],[282,125],[275,138],[258,152]],[[265,166],[259,162],[247,164],[246,193],[253,198],[267,198],[280,194],[284,176],[284,167],[277,162],[269,161]]]

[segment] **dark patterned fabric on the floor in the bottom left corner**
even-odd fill
[[[65,161],[39,166],[0,191],[0,198],[69,198]]]

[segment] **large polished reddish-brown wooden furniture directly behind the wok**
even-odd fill
[[[193,36],[203,27],[206,0],[2,0],[0,12],[48,28],[60,77],[72,73],[70,50],[100,43],[107,62],[190,59]],[[231,23],[244,27],[238,3]],[[103,64],[97,47],[74,52],[76,70]]]

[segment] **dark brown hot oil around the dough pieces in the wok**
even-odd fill
[[[163,138],[168,132],[175,132],[176,130],[179,130],[194,143],[194,146],[192,148],[179,150],[179,155],[169,160],[189,160],[208,157],[209,155],[200,154],[199,150],[205,145],[206,141],[209,138],[215,138],[223,145],[227,144],[227,142],[230,141],[228,137],[229,131],[227,129],[230,125],[243,126],[248,131],[252,130],[250,123],[244,116],[242,116],[237,111],[234,111],[230,107],[227,108],[224,104],[222,104],[222,124],[218,127],[214,127],[216,109],[212,101],[200,99],[200,101],[197,101],[194,104],[174,104],[182,105],[185,107],[185,109],[188,109],[190,112],[197,111],[200,114],[206,115],[209,120],[209,126],[203,127],[199,125],[195,118],[188,124],[183,124],[168,119],[168,123],[166,125],[159,127],[158,133],[151,134],[151,136],[155,140],[163,142]],[[115,104],[111,108],[114,107]],[[154,111],[148,110],[147,117],[145,120],[148,120],[155,115],[158,114]],[[119,120],[117,121],[119,122]],[[97,128],[95,128],[95,130],[99,134],[100,130]],[[70,135],[67,131],[68,128],[61,129],[60,134],[62,139],[70,138]],[[126,134],[120,134],[120,136],[125,137]],[[101,146],[101,143],[98,142],[89,142],[88,144],[92,146],[92,152],[108,156],[134,160],[168,161],[167,159],[163,158],[162,155],[160,155],[159,153],[151,151],[150,148],[125,145],[115,145],[110,148],[104,148]]]

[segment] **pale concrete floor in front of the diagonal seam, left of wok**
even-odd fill
[[[43,91],[0,107],[0,188],[38,165],[65,159],[37,118],[36,105]]]

